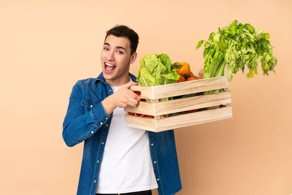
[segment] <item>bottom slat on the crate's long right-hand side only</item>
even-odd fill
[[[165,117],[156,121],[156,131],[161,132],[170,129],[188,127],[231,117],[232,106],[178,115],[175,117]]]

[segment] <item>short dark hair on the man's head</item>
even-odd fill
[[[130,47],[131,47],[131,55],[136,52],[138,43],[139,43],[139,36],[133,29],[125,25],[116,25],[107,31],[105,40],[107,39],[109,35],[113,35],[115,37],[124,37],[124,38],[129,39]]]

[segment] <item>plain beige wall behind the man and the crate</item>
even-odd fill
[[[271,34],[276,75],[238,73],[232,119],[175,130],[178,194],[292,194],[291,9],[291,0],[0,0],[0,194],[76,194],[83,144],[65,145],[62,122],[76,80],[101,71],[106,30],[139,34],[135,75],[148,52],[197,72],[197,42],[235,19]]]

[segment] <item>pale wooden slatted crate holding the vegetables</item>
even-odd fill
[[[125,108],[127,112],[125,116],[126,125],[147,131],[161,132],[231,118],[232,106],[230,106],[231,92],[228,91],[229,87],[230,83],[227,81],[227,76],[159,86],[131,86],[130,90],[140,91],[140,98],[150,99],[151,102],[140,101],[135,108]],[[224,91],[215,94],[159,102],[160,98],[176,97],[217,89],[224,89]],[[218,105],[224,106],[215,109],[204,109]],[[182,113],[183,111],[193,109],[200,110],[189,114],[160,117],[161,115],[174,115],[174,113]],[[154,116],[154,118],[131,116],[128,115],[128,112],[150,115]]]

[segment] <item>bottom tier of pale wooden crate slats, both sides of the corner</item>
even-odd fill
[[[162,119],[151,119],[126,115],[128,127],[143,129],[152,132],[162,132],[171,129],[194,126],[202,123],[222,120],[232,117],[232,106],[196,113],[165,117]]]

